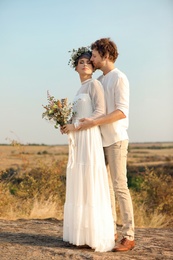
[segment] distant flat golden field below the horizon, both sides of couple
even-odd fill
[[[0,171],[22,167],[27,170],[44,162],[67,159],[67,145],[0,145]],[[158,166],[173,163],[173,143],[131,143],[128,164],[133,166]]]

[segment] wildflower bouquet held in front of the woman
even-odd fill
[[[56,100],[54,96],[51,96],[49,91],[47,91],[47,100],[48,105],[43,105],[46,111],[42,114],[42,118],[54,121],[55,128],[67,124],[73,115],[72,104],[68,103],[68,99],[63,98]]]

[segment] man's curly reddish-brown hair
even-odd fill
[[[109,60],[115,62],[118,58],[118,49],[116,44],[110,40],[110,38],[101,38],[91,44],[91,50],[97,50],[100,56],[103,58],[106,54],[109,54]]]

